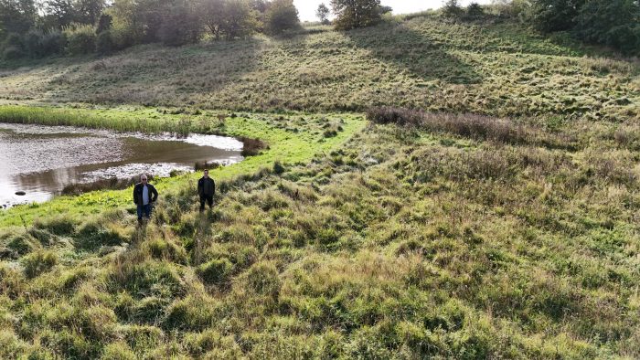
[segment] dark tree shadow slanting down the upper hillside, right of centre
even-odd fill
[[[471,65],[402,24],[351,30],[346,34],[357,48],[366,48],[373,57],[425,81],[440,79],[451,84],[477,84],[483,80]]]

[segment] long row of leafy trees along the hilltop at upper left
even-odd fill
[[[4,58],[110,53],[281,34],[299,26],[293,0],[0,0]]]

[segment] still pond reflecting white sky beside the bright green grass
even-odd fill
[[[242,143],[215,135],[92,131],[0,122],[0,209],[47,201],[65,185],[240,162]],[[16,192],[25,192],[17,196]]]

